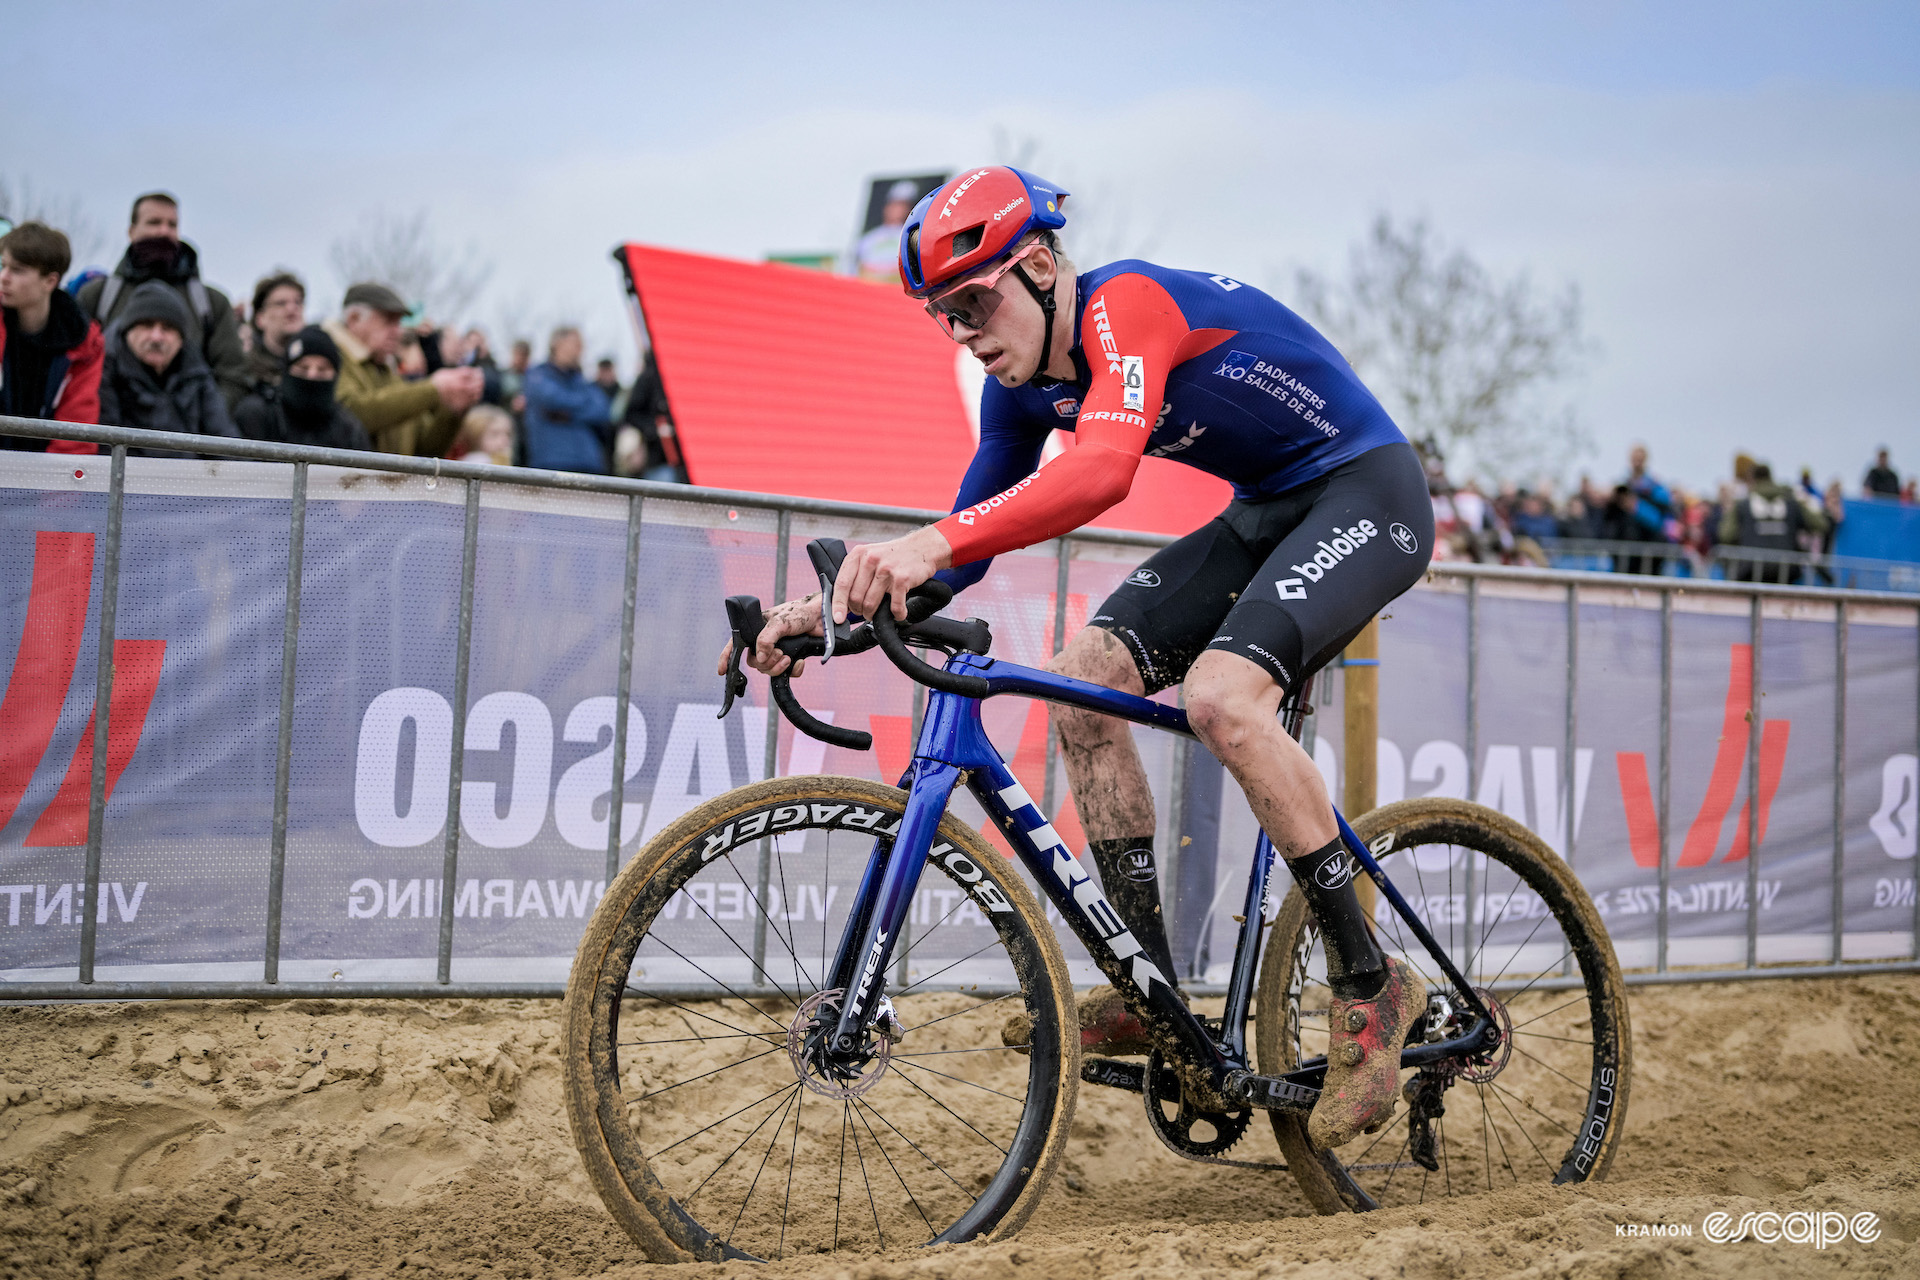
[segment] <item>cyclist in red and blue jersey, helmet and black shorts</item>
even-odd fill
[[[870,616],[891,593],[904,618],[906,593],[929,578],[972,585],[995,555],[1096,518],[1127,495],[1142,457],[1233,484],[1227,509],[1140,564],[1050,670],[1137,695],[1185,681],[1194,733],[1238,779],[1327,940],[1327,1086],[1308,1126],[1327,1150],[1392,1115],[1400,1044],[1427,996],[1375,944],[1327,787],[1277,710],[1425,572],[1427,478],[1346,359],[1273,297],[1144,261],[1075,273],[1056,236],[1066,196],[993,165],[908,215],[904,290],[989,374],[979,451],[954,514],[854,547],[829,604],[835,620]],[[1043,468],[1054,428],[1075,432],[1075,447]],[[770,610],[753,666],[785,670],[774,643],[820,633],[820,618],[816,595]],[[1154,802],[1131,729],[1054,714],[1102,885],[1171,981]],[[1091,1052],[1150,1048],[1112,988],[1083,1000],[1081,1029]],[[1008,1034],[1014,1044],[1018,1029]]]

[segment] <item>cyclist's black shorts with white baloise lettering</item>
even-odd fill
[[[1227,503],[1133,570],[1087,624],[1127,645],[1148,693],[1181,683],[1206,649],[1292,689],[1421,580],[1432,541],[1413,445],[1380,445],[1298,489]]]

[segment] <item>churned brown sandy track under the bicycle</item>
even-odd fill
[[[0,1276],[1920,1274],[1920,977],[1634,992],[1609,1182],[1315,1219],[1283,1173],[1158,1148],[1085,1088],[1068,1167],[998,1245],[651,1267],[580,1173],[559,1006],[0,1009]],[[1256,1126],[1235,1155],[1273,1155]],[[1874,1244],[1715,1245],[1711,1211],[1876,1211]],[[1619,1236],[1686,1222],[1695,1238]]]

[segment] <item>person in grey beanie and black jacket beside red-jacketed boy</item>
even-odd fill
[[[159,280],[132,290],[108,330],[100,378],[100,420],[182,436],[236,438],[227,399],[200,349],[186,342],[190,315]],[[132,449],[146,457],[190,459],[186,449]]]

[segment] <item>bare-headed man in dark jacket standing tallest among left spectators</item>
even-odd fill
[[[240,317],[227,294],[200,280],[200,253],[180,240],[180,201],[167,192],[136,196],[127,242],[127,255],[113,274],[81,286],[81,311],[100,320],[102,330],[111,330],[140,284],[165,284],[186,315],[186,345],[200,353],[232,409],[248,391]]]

